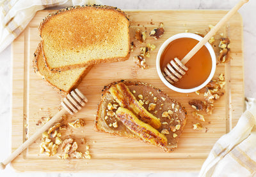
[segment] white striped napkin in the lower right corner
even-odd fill
[[[213,146],[199,176],[256,176],[256,100],[248,99],[236,127]]]

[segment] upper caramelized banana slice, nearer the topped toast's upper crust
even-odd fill
[[[118,83],[111,86],[109,88],[109,92],[121,107],[133,111],[143,122],[151,125],[155,129],[159,129],[161,127],[160,120],[154,117],[151,113],[148,113],[148,111],[141,106],[124,83]]]

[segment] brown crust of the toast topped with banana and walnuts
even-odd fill
[[[104,131],[104,129],[102,129],[102,127],[100,127],[100,124],[98,124],[100,122],[100,117],[102,115],[100,115],[100,107],[102,106],[102,104],[104,103],[105,101],[105,98],[106,98],[106,95],[109,94],[108,92],[108,89],[112,86],[112,85],[116,85],[120,82],[123,82],[125,85],[127,85],[127,87],[129,87],[130,85],[140,85],[141,87],[151,87],[151,88],[154,88],[155,90],[157,90],[157,92],[159,92],[159,94],[161,94],[162,96],[166,96],[168,97],[168,94],[165,94],[163,91],[161,91],[159,88],[156,88],[148,83],[143,83],[143,82],[140,82],[140,81],[125,81],[125,80],[120,80],[120,81],[114,81],[113,83],[109,83],[109,85],[106,85],[104,86],[104,88],[102,89],[102,94],[101,94],[101,98],[100,98],[100,102],[98,104],[98,110],[97,110],[97,116],[95,118],[95,124],[94,124],[94,129],[96,131],[99,131],[99,132],[104,132],[106,133],[106,131]],[[174,99],[171,99],[173,103],[176,103],[176,104],[179,104],[179,102],[175,101]],[[181,105],[180,105],[181,106]],[[184,110],[184,108],[181,106],[182,110]],[[185,113],[186,113],[186,110],[184,110]],[[187,120],[187,113],[185,114],[185,118],[183,120],[183,124],[186,125],[186,120]],[[182,132],[184,129],[184,126],[180,127],[180,131]],[[136,136],[135,134],[119,134],[118,132],[115,132],[115,131],[110,131],[110,132],[107,132],[113,136],[122,136],[122,137],[125,137],[125,138],[129,138],[129,139],[136,139],[136,140],[141,140],[140,137]],[[146,142],[148,143],[148,142]],[[150,143],[148,143],[150,144]],[[151,145],[151,144],[150,144]],[[161,148],[161,150],[163,150],[164,152],[172,152],[173,151],[173,148],[177,148],[177,145],[168,145],[168,146],[158,146],[159,148]]]

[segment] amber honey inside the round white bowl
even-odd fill
[[[161,55],[161,71],[163,72],[166,64],[175,57],[180,60],[183,59],[197,43],[198,40],[193,38],[179,38],[173,40],[166,46]],[[186,67],[188,67],[186,74],[172,85],[184,89],[195,88],[202,85],[202,83],[209,77],[212,69],[212,59],[209,50],[207,50],[205,46],[200,48],[200,50],[186,63]]]

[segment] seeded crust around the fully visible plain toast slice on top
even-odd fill
[[[124,11],[122,11],[122,10],[116,8],[116,7],[113,7],[113,6],[104,6],[104,5],[71,6],[71,7],[67,7],[67,8],[63,8],[61,10],[58,10],[54,13],[49,13],[49,15],[47,15],[47,17],[45,17],[42,20],[42,22],[40,23],[40,25],[38,27],[40,37],[42,38],[42,29],[44,28],[44,25],[49,20],[51,20],[52,17],[54,17],[56,15],[59,15],[61,13],[65,13],[65,12],[70,11],[70,10],[76,10],[77,8],[96,8],[96,9],[100,8],[100,9],[105,9],[105,10],[116,11],[116,12],[120,13],[122,16],[124,16],[129,21],[129,18],[127,17],[127,15],[125,14]],[[129,36],[129,34],[128,34],[128,36]],[[51,72],[59,72],[59,71],[66,71],[68,69],[74,69],[74,68],[77,68],[77,67],[91,66],[91,65],[94,65],[94,64],[100,64],[100,63],[104,63],[104,62],[119,62],[119,61],[127,60],[127,59],[129,59],[129,56],[130,56],[130,53],[131,53],[130,39],[128,40],[127,45],[129,46],[129,52],[127,53],[127,55],[125,57],[106,58],[106,59],[101,59],[101,60],[94,59],[94,60],[87,61],[86,63],[70,64],[68,66],[63,66],[63,67],[51,67],[51,66],[49,66],[49,63],[47,62],[47,59],[45,57],[45,51],[44,51],[43,46],[42,46],[42,53],[43,53],[43,56],[44,56],[45,66],[47,66]]]

